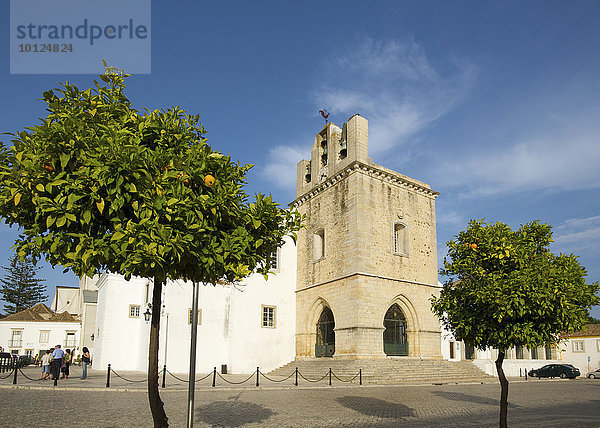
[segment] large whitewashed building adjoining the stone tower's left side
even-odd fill
[[[232,373],[274,369],[295,356],[296,247],[291,239],[278,251],[275,275],[254,274],[236,285],[201,285],[197,371],[227,365]],[[146,370],[150,325],[144,312],[152,282],[126,281],[105,273],[97,281],[98,308],[93,368]],[[163,287],[159,365],[174,373],[189,369],[192,284]]]

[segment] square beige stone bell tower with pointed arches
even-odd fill
[[[435,198],[429,185],[373,163],[354,115],[316,135],[298,163],[296,354],[440,357]]]

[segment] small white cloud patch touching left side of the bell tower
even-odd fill
[[[272,147],[261,174],[275,187],[292,190],[296,187],[296,165],[301,159],[309,159],[310,147],[301,150],[295,146]]]

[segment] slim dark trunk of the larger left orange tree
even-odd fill
[[[162,278],[154,278],[152,291],[152,321],[150,321],[150,346],[148,347],[148,400],[154,428],[169,426],[167,414],[158,393],[158,334],[160,331],[160,310],[162,307]]]

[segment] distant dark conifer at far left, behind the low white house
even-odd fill
[[[24,260],[13,255],[10,266],[2,266],[7,274],[0,282],[0,296],[6,302],[4,310],[7,314],[23,311],[46,300],[46,286],[43,279],[36,278],[36,267],[30,258]]]

